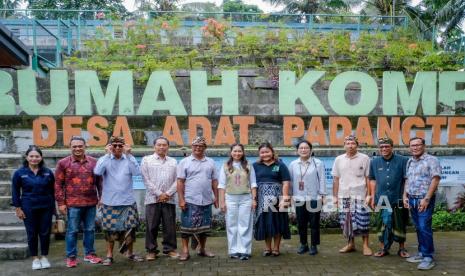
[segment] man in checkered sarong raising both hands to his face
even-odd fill
[[[144,258],[133,253],[139,216],[132,177],[140,174],[139,164],[131,154],[131,146],[125,144],[122,137],[111,137],[105,151],[94,169],[96,175],[103,177],[102,228],[107,241],[107,256],[103,264],[113,263],[115,241],[119,241],[119,251],[126,253],[129,260],[143,261]]]

